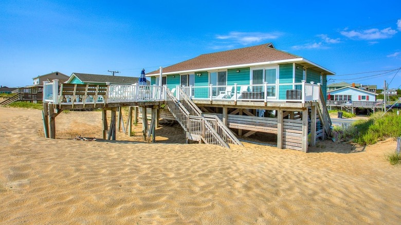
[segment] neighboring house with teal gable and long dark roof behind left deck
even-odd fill
[[[100,74],[77,73],[71,74],[69,79],[65,82],[67,84],[135,84],[138,83],[139,78],[122,77]],[[149,81],[148,81],[149,83]]]

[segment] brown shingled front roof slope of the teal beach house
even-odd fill
[[[271,43],[269,43],[201,54],[193,59],[163,68],[163,73],[301,58],[297,55],[277,50],[271,46]],[[147,74],[150,75],[156,73],[159,73],[159,70]]]

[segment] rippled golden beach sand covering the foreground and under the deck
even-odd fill
[[[367,147],[318,142],[311,153],[245,143],[185,144],[178,126],[156,144],[101,137],[100,112],[57,117],[0,107],[1,224],[399,224],[401,166]],[[179,142],[178,144],[174,142]]]

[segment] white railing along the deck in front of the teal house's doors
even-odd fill
[[[176,86],[190,96],[198,100],[222,100],[222,101],[289,101],[308,102],[318,101],[320,97],[320,84],[284,83],[284,84],[255,84],[255,85],[208,85],[208,86]],[[180,99],[180,91],[176,91],[177,99]]]

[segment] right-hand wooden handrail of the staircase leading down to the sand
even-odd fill
[[[215,115],[204,115],[202,113],[202,110],[199,109],[199,107],[192,101],[192,99],[187,95],[187,93],[184,92],[183,89],[178,88],[178,91],[179,91],[180,102],[184,102],[185,105],[188,105],[190,107],[190,110],[188,110],[188,111],[190,111],[191,115],[204,117],[206,123],[209,123],[209,121],[206,119],[206,117],[214,119],[217,123],[217,128],[216,127],[213,128],[213,126],[211,124],[209,124],[209,125],[210,125],[210,127],[212,127],[215,130],[215,132],[217,133],[218,136],[220,136],[220,132],[218,132],[218,129],[221,129],[223,132],[222,135],[224,137],[222,137],[222,136],[220,136],[220,137],[222,137],[225,142],[244,146],[241,143],[241,141],[235,137],[234,133],[232,133],[232,131],[223,123],[223,121],[220,118],[218,118]]]

